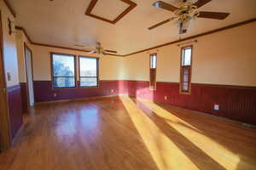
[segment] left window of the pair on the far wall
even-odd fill
[[[54,88],[75,88],[75,56],[51,54]]]

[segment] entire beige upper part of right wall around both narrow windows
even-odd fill
[[[256,86],[255,30],[253,22],[196,38],[192,82]],[[125,57],[123,78],[148,81],[149,54],[157,52],[156,80],[179,82],[180,47],[172,44],[156,50]]]

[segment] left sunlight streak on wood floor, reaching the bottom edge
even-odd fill
[[[199,169],[128,97],[120,99],[160,170]]]

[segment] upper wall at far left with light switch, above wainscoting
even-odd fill
[[[2,15],[2,27],[3,27],[3,60],[6,73],[10,74],[11,80],[7,81],[7,87],[19,84],[19,71],[18,71],[18,60],[16,51],[16,40],[15,33],[9,35],[8,19],[15,21],[14,16],[10,13],[9,8],[0,1],[0,10]]]

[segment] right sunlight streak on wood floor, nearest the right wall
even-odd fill
[[[154,114],[160,116],[167,124],[176,129],[178,133],[181,133],[191,143],[195,144],[198,148],[203,150],[208,156],[210,156],[214,161],[217,161],[222,167],[226,169],[236,169],[238,163],[241,161],[238,155],[232,153],[223,145],[218,144],[214,141],[214,139],[208,138],[196,127],[193,127],[188,122],[184,122],[179,117],[172,115],[171,112],[166,111],[159,105],[144,99],[137,100],[142,102],[143,105],[146,105],[151,111],[154,112]]]

